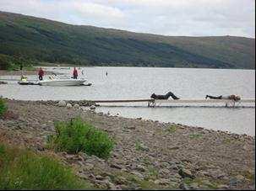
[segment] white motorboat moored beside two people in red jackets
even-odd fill
[[[81,86],[86,80],[84,78],[73,79],[66,75],[50,76],[48,79],[39,81],[41,86]]]

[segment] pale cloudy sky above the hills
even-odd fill
[[[254,0],[0,0],[0,10],[139,33],[255,38]]]

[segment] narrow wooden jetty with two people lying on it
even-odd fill
[[[154,98],[141,98],[141,99],[112,99],[112,100],[87,100],[90,103],[148,103],[148,107],[155,107],[157,103],[225,103],[225,106],[234,107],[236,103],[255,103],[253,98],[244,98],[239,101],[232,99],[154,99]]]

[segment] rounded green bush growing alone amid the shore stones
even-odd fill
[[[57,122],[55,130],[57,134],[48,137],[48,146],[57,151],[84,151],[88,155],[107,158],[114,147],[114,141],[105,131],[96,130],[94,126],[79,118]]]

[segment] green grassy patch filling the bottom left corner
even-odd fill
[[[0,143],[0,189],[89,189],[71,168],[32,151]]]

